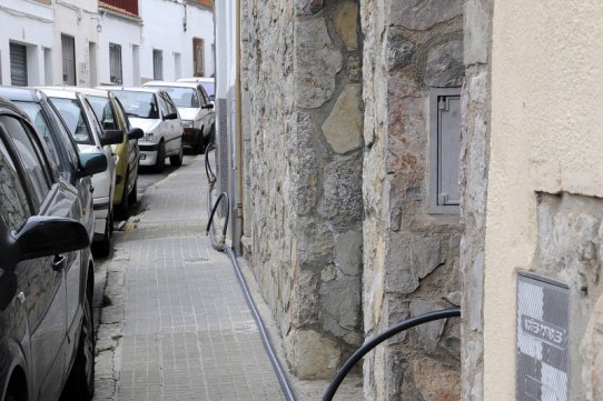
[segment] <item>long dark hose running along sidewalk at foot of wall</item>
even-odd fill
[[[233,250],[233,248],[230,248],[226,243],[226,232],[228,229],[228,220],[230,218],[230,199],[228,198],[228,193],[226,192],[220,193],[220,196],[216,200],[216,203],[211,208],[211,202],[212,202],[211,192],[214,190],[214,184],[216,183],[216,176],[214,174],[211,167],[209,166],[208,153],[212,149],[214,149],[212,142],[209,142],[205,151],[205,167],[206,167],[205,171],[207,174],[207,181],[209,182],[209,189],[207,191],[207,209],[208,209],[208,215],[209,215],[209,220],[207,222],[207,233],[211,240],[211,245],[214,247],[214,249],[216,249],[219,252],[225,252],[226,254],[228,254],[230,262],[233,263],[233,267],[235,268],[235,273],[237,274],[237,279],[239,281],[243,293],[245,295],[245,301],[247,302],[247,305],[249,307],[249,310],[251,311],[251,315],[254,317],[254,320],[258,327],[259,337],[261,338],[261,342],[264,343],[264,349],[266,350],[266,353],[268,354],[268,359],[270,361],[270,364],[273,365],[276,378],[278,380],[278,384],[280,385],[280,389],[283,390],[285,399],[287,401],[296,401],[295,395],[291,391],[291,387],[287,380],[285,370],[280,365],[280,362],[278,361],[278,358],[276,357],[276,353],[274,351],[273,343],[270,342],[270,338],[268,337],[268,332],[266,331],[266,325],[264,324],[264,321],[261,320],[261,317],[254,302],[254,299],[251,298],[251,293],[249,292],[249,287],[247,285],[247,282],[245,281],[245,277],[243,275],[243,272],[238,264],[235,251]],[[221,238],[219,239],[219,241],[216,241],[216,237],[215,237],[211,225],[212,225],[214,217],[216,214],[216,210],[218,209],[218,204],[223,200],[226,200],[226,210],[227,210],[226,220],[224,223]],[[209,208],[211,208],[210,213],[209,213]]]

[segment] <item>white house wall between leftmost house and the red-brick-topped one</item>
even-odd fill
[[[81,87],[90,86],[89,43],[98,43],[98,24],[97,0],[56,0],[52,84],[63,83],[61,34],[67,34],[75,38],[76,84]]]

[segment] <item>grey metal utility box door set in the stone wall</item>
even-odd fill
[[[461,158],[461,90],[429,92],[429,212],[458,213]]]

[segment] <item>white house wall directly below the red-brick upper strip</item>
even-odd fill
[[[109,43],[121,46],[121,78],[125,87],[139,86],[140,82],[140,21],[122,18],[110,12],[101,12],[101,32],[98,47],[98,82],[110,84]],[[137,50],[138,49],[138,50]]]

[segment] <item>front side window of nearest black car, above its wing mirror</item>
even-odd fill
[[[29,205],[17,169],[0,141],[0,218],[9,230],[19,230],[29,218]]]

